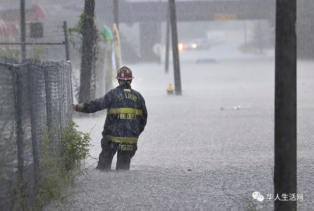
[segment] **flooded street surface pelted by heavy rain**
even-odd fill
[[[164,74],[163,65],[129,67],[148,109],[131,170],[113,170],[116,156],[110,172],[90,168],[90,177],[69,190],[73,204],[48,210],[273,209],[274,60],[183,63],[182,96],[167,95],[173,72]],[[314,207],[313,70],[314,63],[299,61],[298,211]],[[98,158],[105,116],[75,121],[83,132],[96,125],[91,154]],[[263,202],[253,199],[255,191]]]

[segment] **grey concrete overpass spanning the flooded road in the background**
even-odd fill
[[[113,11],[112,0],[107,8]],[[178,22],[270,20],[275,22],[276,0],[176,1]],[[97,8],[96,8],[97,10]],[[297,0],[298,56],[314,59],[314,0]],[[104,14],[104,12],[102,12]],[[140,23],[140,52],[144,61],[156,61],[152,48],[160,42],[160,23],[166,21],[167,1],[119,0],[119,23]],[[106,23],[113,14],[105,13]],[[154,33],[152,33],[152,31]]]

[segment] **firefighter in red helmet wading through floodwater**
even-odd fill
[[[119,86],[105,96],[88,103],[73,104],[74,110],[94,113],[107,109],[102,152],[97,169],[110,170],[112,158],[118,152],[116,170],[130,169],[131,158],[137,150],[137,140],[147,122],[147,109],[142,95],[131,89],[132,71],[124,66],[117,74]]]

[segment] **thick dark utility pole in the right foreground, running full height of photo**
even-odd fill
[[[276,1],[274,197],[297,194],[296,0]],[[296,211],[296,201],[274,201]]]

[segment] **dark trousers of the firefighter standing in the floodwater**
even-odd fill
[[[97,168],[111,169],[111,163],[114,155],[118,151],[116,170],[129,170],[131,158],[137,150],[136,143],[115,143],[105,138],[101,141],[102,152],[99,155]]]

